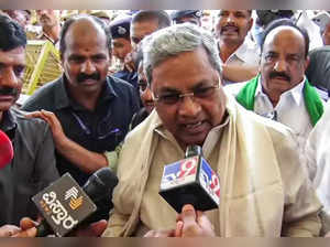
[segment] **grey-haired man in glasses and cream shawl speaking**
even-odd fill
[[[205,212],[211,233],[200,233],[319,235],[321,204],[300,167],[292,132],[224,94],[211,34],[194,24],[174,25],[150,35],[143,51],[156,110],[125,138],[114,210],[103,236],[176,228],[177,214],[158,190],[164,165],[182,160],[191,144],[202,147],[221,187],[219,207]]]

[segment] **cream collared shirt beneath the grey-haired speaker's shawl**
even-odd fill
[[[210,158],[211,152],[213,151],[216,144],[220,140],[223,128],[228,125],[229,117],[227,116],[226,121],[223,124],[212,128],[208,133],[202,146],[202,152],[206,160]],[[176,212],[167,205],[162,206],[163,204],[167,203],[163,200],[163,197],[155,196],[155,194],[157,194],[157,191],[160,190],[164,165],[168,164],[169,160],[169,163],[173,163],[176,162],[178,158],[184,159],[185,152],[179,147],[173,135],[168,130],[166,130],[163,125],[157,127],[157,129],[155,129],[155,132],[161,137],[160,142],[157,144],[158,151],[153,158],[154,162],[151,167],[148,181],[145,186],[146,190],[142,198],[140,212],[142,227],[136,233],[138,236],[142,236],[143,234],[145,234],[144,230],[146,229],[160,229],[164,227],[172,228],[175,225]],[[168,144],[168,142],[170,142],[172,144]],[[172,153],[170,158],[168,157],[168,153]],[[216,157],[213,155],[213,158]],[[211,160],[208,161],[211,162]],[[217,171],[217,168],[212,169],[213,171]],[[160,211],[162,213],[160,213]],[[216,218],[215,214],[217,214],[217,210],[208,212],[208,216],[209,218],[211,218],[211,221]],[[172,217],[169,215],[172,215]],[[160,218],[162,216],[164,217]]]

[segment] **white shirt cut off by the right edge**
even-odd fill
[[[307,167],[317,194],[330,214],[330,101],[310,132],[306,146]]]

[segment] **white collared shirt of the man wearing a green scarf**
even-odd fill
[[[292,128],[297,136],[300,148],[305,147],[306,139],[312,129],[310,116],[304,100],[305,80],[306,78],[290,90],[283,93],[275,107],[273,107],[268,96],[263,92],[261,82],[258,82],[254,99],[254,112]]]

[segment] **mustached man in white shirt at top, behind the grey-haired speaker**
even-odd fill
[[[216,25],[224,84],[246,82],[257,74],[258,47],[249,37],[252,10],[220,10]]]

